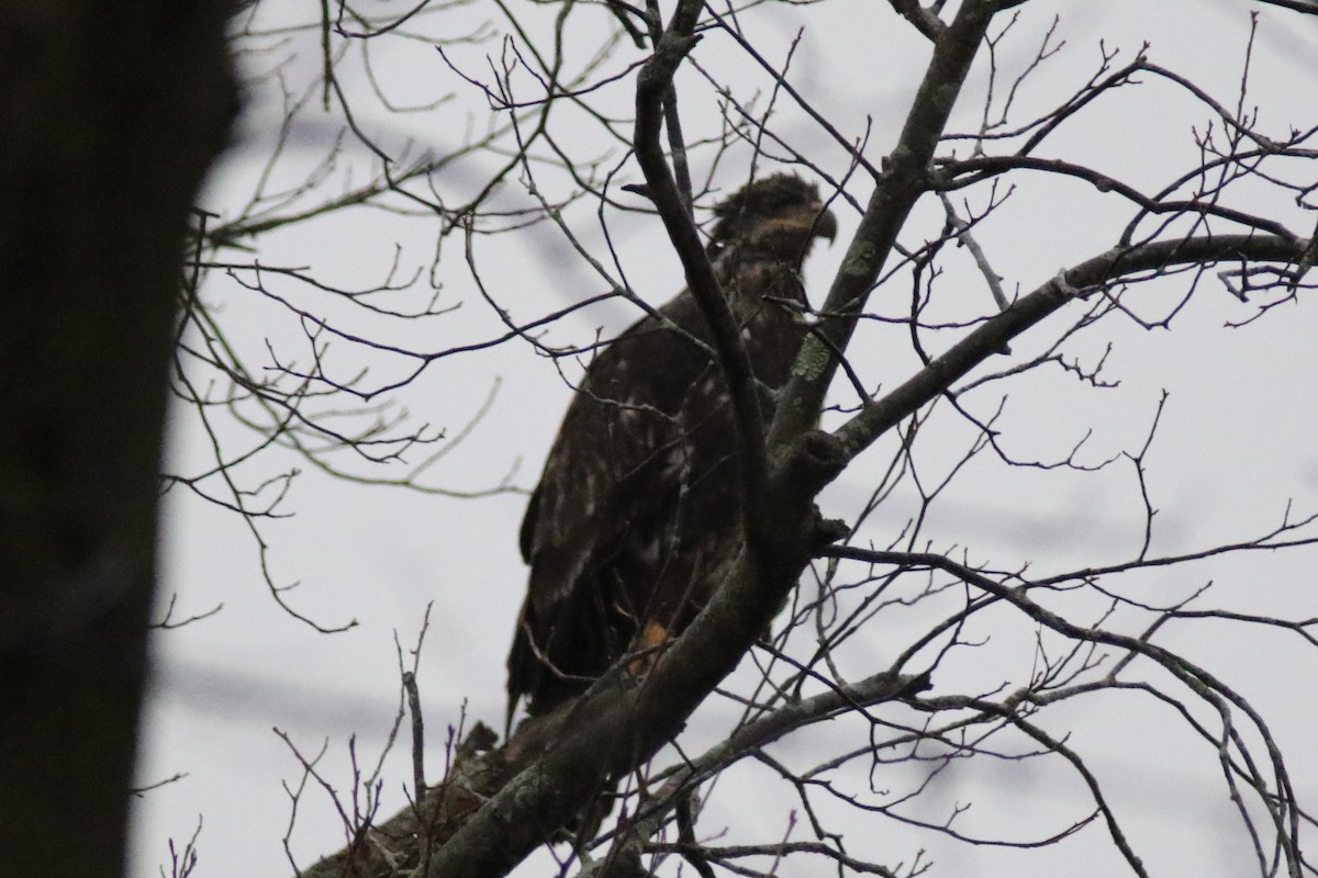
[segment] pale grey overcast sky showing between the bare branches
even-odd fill
[[[372,12],[397,13],[394,5],[376,4]],[[544,17],[543,8],[525,5],[529,16]],[[1259,107],[1259,126],[1265,133],[1284,136],[1292,125],[1318,124],[1314,63],[1318,20],[1247,3],[1035,0],[1023,8],[1019,30],[1002,46],[999,63],[1004,71],[1019,70],[1057,14],[1061,18],[1057,34],[1066,45],[1031,80],[1032,87],[1023,91],[1020,100],[1028,109],[1021,111],[1021,120],[1056,105],[1087,78],[1097,66],[1101,39],[1107,47],[1122,50],[1118,65],[1133,57],[1143,42],[1151,43],[1152,61],[1193,78],[1223,104],[1234,107],[1251,8],[1261,9],[1247,101]],[[315,8],[298,12],[314,16]],[[585,13],[577,16],[581,21],[590,20]],[[593,18],[600,26],[606,24],[602,11],[596,11]],[[472,4],[436,21],[445,22],[443,33],[452,36],[482,20],[502,28],[489,3]],[[780,58],[797,29],[804,28],[792,82],[849,137],[859,136],[866,117],[873,117],[867,147],[871,161],[876,162],[891,147],[928,47],[887,4],[861,0],[826,0],[807,7],[770,4],[749,16],[746,24],[770,58]],[[434,30],[435,25],[428,28]],[[424,29],[427,25],[416,24],[414,30]],[[573,32],[572,37],[583,39],[583,46],[592,45],[589,33]],[[290,33],[286,42],[268,45],[275,49],[248,58],[246,70],[266,70],[293,57],[286,78],[293,91],[303,88],[320,63],[316,34]],[[486,125],[489,109],[484,97],[465,86],[426,41],[382,39],[372,46],[377,74],[399,101],[419,105],[455,93],[451,104],[427,113],[389,116],[378,108],[368,113],[362,124],[382,145],[401,151],[414,138],[419,147],[443,151],[456,145],[468,126],[478,130]],[[496,39],[453,46],[449,54],[473,75],[485,75],[485,57],[497,58],[500,43]],[[755,82],[755,72],[726,39],[712,36],[695,57],[712,68],[726,70],[738,87],[749,88]],[[637,50],[623,46],[614,66],[638,58]],[[357,71],[352,62],[343,67],[349,87],[364,91]],[[977,67],[967,99],[954,116],[954,129],[974,128],[978,113],[974,97],[982,93],[983,75],[985,68]],[[1141,79],[1145,84],[1139,88],[1122,90],[1099,101],[1093,113],[1060,133],[1045,153],[1090,161],[1145,190],[1174,178],[1194,161],[1190,129],[1202,130],[1207,112],[1184,100],[1173,87],[1151,76]],[[530,96],[532,83],[526,76],[519,82]],[[601,100],[625,109],[630,105],[631,83],[629,79],[606,90]],[[217,167],[203,197],[203,207],[224,220],[232,219],[252,191],[281,118],[277,91],[253,91],[249,97],[239,142]],[[688,134],[717,125],[708,100],[687,100],[684,92],[683,111],[689,120]],[[336,120],[315,105],[306,112],[293,129],[286,163],[278,170],[286,184],[303,179],[306,170],[322,158]],[[832,174],[845,171],[844,153],[787,104],[776,117],[776,130]],[[579,159],[612,155],[605,166],[617,163],[621,155],[616,142],[598,140],[598,130],[588,124],[581,125],[579,138],[568,145],[577,150]],[[482,158],[478,165],[488,168],[493,162]],[[436,186],[449,196],[469,194],[478,183],[474,167],[459,166],[452,174],[439,175]],[[706,167],[696,170],[704,174]],[[369,178],[370,157],[349,142],[335,172],[361,183]],[[637,179],[634,163],[625,172]],[[1311,180],[1315,175],[1301,170],[1297,176]],[[718,179],[734,188],[743,178],[745,166],[731,157]],[[1008,292],[1016,288],[1028,292],[1060,267],[1107,249],[1131,215],[1116,196],[1104,199],[1085,187],[1043,179],[1015,179],[1021,183],[1020,191],[1003,208],[999,221],[987,224],[979,236],[995,269],[1006,276]],[[564,186],[548,171],[538,182],[547,188]],[[328,186],[327,191],[336,191],[340,184]],[[850,191],[862,201],[869,196],[861,180]],[[503,197],[509,205],[526,203],[525,192],[509,191]],[[1259,204],[1269,205],[1293,230],[1311,230],[1311,213],[1285,205],[1276,195],[1260,197],[1267,200]],[[938,222],[928,221],[936,216],[931,207],[923,205],[920,216],[925,221],[911,226],[903,238],[905,244],[919,244],[920,236],[937,233]],[[840,241],[818,251],[807,271],[807,287],[816,301],[857,224],[849,208],[836,209],[842,226]],[[658,221],[643,213],[618,211],[608,219],[613,244],[635,290],[652,304],[671,296],[680,287],[680,271]],[[604,253],[593,207],[569,212],[567,220],[594,253]],[[409,276],[419,269],[418,295],[423,297],[435,233],[432,217],[403,219],[355,209],[264,238],[257,255],[264,265],[306,266],[316,278],[352,288],[380,283],[397,245],[402,254],[399,275]],[[419,326],[361,320],[294,283],[277,278],[269,283],[316,313],[341,319],[344,328],[374,332],[391,344],[420,350],[497,334],[498,320],[472,283],[461,238],[448,238],[443,246],[436,271],[443,284],[440,303],[461,303],[461,308]],[[548,225],[477,238],[474,247],[489,291],[517,320],[534,319],[604,290],[561,233]],[[252,255],[227,253],[224,258],[241,262]],[[953,276],[946,288],[963,282],[967,295],[983,296],[970,311],[983,311],[988,291],[966,266],[962,270],[965,274]],[[887,294],[895,296],[891,307],[882,304],[883,295],[876,297],[875,308],[900,313],[909,288],[899,280]],[[221,272],[212,274],[206,297],[217,307],[231,341],[244,351],[250,367],[269,366],[268,341],[281,355],[306,363],[301,329],[287,311],[261,300]],[[1152,315],[1173,299],[1174,294],[1151,291],[1136,301]],[[1065,457],[1093,429],[1082,461],[1135,452],[1166,388],[1170,400],[1147,462],[1149,487],[1160,509],[1156,552],[1259,536],[1280,523],[1288,500],[1293,500],[1297,515],[1318,509],[1318,457],[1313,448],[1318,426],[1314,392],[1318,345],[1313,341],[1318,337],[1318,309],[1307,301],[1290,304],[1249,329],[1223,329],[1226,320],[1249,313],[1217,280],[1207,279],[1197,299],[1173,323],[1172,332],[1144,332],[1130,321],[1103,321],[1097,332],[1077,338],[1065,350],[1069,358],[1079,355],[1094,362],[1111,341],[1114,353],[1108,357],[1107,376],[1119,379],[1120,387],[1085,392],[1052,373],[1027,378],[1014,390],[1000,421],[1004,442],[1020,457],[1052,459]],[[552,338],[583,342],[596,328],[616,332],[634,316],[629,307],[608,303],[565,319],[555,326]],[[1037,350],[1061,325],[1056,319],[1046,321],[1021,340],[1017,351],[1024,355]],[[871,380],[892,387],[911,374],[915,361],[909,344],[903,342],[904,332],[871,332],[853,349],[857,363],[869,370]],[[942,341],[948,344],[952,338]],[[364,358],[343,344],[335,349],[341,357],[333,366],[340,376],[351,374],[353,363],[369,363],[373,379],[386,383],[409,369],[397,359]],[[1004,365],[992,362],[988,369]],[[517,488],[534,486],[571,390],[554,365],[529,345],[507,344],[440,361],[398,399],[418,424],[444,426],[453,434],[496,386],[498,392],[489,413],[464,444],[427,473],[423,479],[427,484],[480,491],[500,484],[511,473]],[[215,412],[214,417],[232,450],[249,448],[254,441],[250,432],[233,425],[223,413]],[[925,461],[931,478],[956,461],[969,440],[969,432],[960,425],[925,436],[920,459]],[[853,517],[890,452],[891,442],[873,449],[854,471],[825,492],[824,511]],[[166,470],[204,471],[212,462],[211,453],[195,412],[175,407]],[[416,459],[420,457],[413,458]],[[154,636],[156,671],[146,707],[140,783],[154,783],[175,773],[187,777],[137,802],[134,875],[156,874],[158,864],[167,861],[167,840],[173,837],[182,846],[199,819],[204,820],[204,828],[196,875],[291,874],[281,841],[289,825],[290,803],[281,785],[295,785],[301,770],[272,729],[289,733],[306,754],[315,754],[324,745],[320,767],[345,792],[351,778],[349,737],[356,735],[358,760],[373,766],[394,719],[395,632],[405,648],[411,645],[430,602],[434,609],[419,681],[431,781],[442,770],[445,725],[457,721],[464,702],[469,719],[492,725],[502,721],[503,658],[526,577],[517,553],[525,494],[452,499],[365,487],[330,479],[281,450],[262,453],[243,473],[252,486],[290,467],[302,470],[287,503],[287,511],[295,516],[264,525],[272,545],[272,575],[281,584],[301,583],[287,594],[298,612],[324,625],[349,619],[360,624],[347,633],[320,634],[290,617],[268,594],[257,546],[236,515],[181,488],[166,496],[162,602],[177,595],[175,612],[181,616],[204,612],[217,603],[224,608],[204,621]],[[401,473],[376,475],[397,478]],[[1128,462],[1081,478],[1068,473],[1006,470],[983,459],[969,467],[957,484],[945,504],[934,508],[928,534],[937,549],[953,544],[958,552],[969,549],[973,561],[992,559],[1000,569],[1031,562],[1032,570],[1048,573],[1128,558],[1141,537],[1140,499]],[[871,517],[866,533],[876,542],[887,542],[913,508],[911,494],[899,492]],[[1126,594],[1166,602],[1214,581],[1211,606],[1304,619],[1318,616],[1311,573],[1315,561],[1314,550],[1260,553],[1119,582]],[[900,613],[871,625],[873,631],[841,657],[847,670],[859,675],[866,669],[873,673],[882,667],[907,637],[920,631],[916,625],[921,615],[908,615],[911,631],[886,628],[900,624]],[[1074,619],[1090,623],[1095,616],[1077,612]],[[985,627],[988,623],[998,627]],[[986,617],[977,633],[988,637],[987,645],[950,659],[936,686],[945,686],[948,692],[977,687],[988,691],[1003,681],[1028,675],[1035,657],[1033,627],[1000,613]],[[1313,731],[1318,720],[1315,650],[1304,649],[1294,636],[1278,632],[1260,636],[1222,624],[1170,627],[1161,642],[1185,650],[1248,696],[1275,724],[1278,742],[1289,754],[1301,802],[1306,795],[1318,796],[1318,746]],[[741,674],[750,671],[750,663],[743,662]],[[699,753],[704,744],[716,741],[733,716],[725,704],[702,708],[684,737],[687,752]],[[1119,813],[1124,813],[1126,829],[1151,874],[1213,878],[1255,874],[1252,853],[1226,800],[1214,753],[1191,738],[1165,707],[1157,708],[1147,698],[1114,694],[1082,699],[1045,716],[1050,717],[1050,729],[1069,731],[1070,744],[1091,756],[1091,765],[1102,773]],[[805,766],[812,758],[820,761],[861,744],[863,732],[858,737],[855,727],[840,721],[788,738],[775,753],[789,763]],[[403,806],[403,785],[410,787],[410,757],[403,740],[390,754],[382,777],[384,817]],[[875,785],[899,788],[913,777],[905,767],[894,767],[888,775],[876,778]],[[840,775],[838,782],[863,788],[865,766],[855,775]],[[1011,839],[1037,837],[1085,812],[1077,804],[1081,792],[1074,775],[1056,762],[977,760],[940,779],[929,792],[925,813],[945,816],[938,808],[973,802],[971,812],[960,819],[967,821],[962,828]],[[720,782],[700,825],[709,833],[728,825],[728,842],[776,841],[788,832],[792,808],[799,810],[799,804],[786,785],[764,769],[742,765]],[[878,817],[840,812],[834,820],[836,827],[846,828],[858,856],[896,867],[903,861],[909,864],[924,849],[924,857],[934,862],[928,873],[932,875],[998,878],[1128,871],[1099,824],[1054,848],[1017,850],[962,845]],[[800,813],[791,837],[811,837]],[[308,790],[291,836],[298,865],[314,862],[343,841],[327,798],[319,790]],[[822,874],[822,869],[821,861],[799,858],[788,860],[780,874],[813,875]],[[551,871],[542,852],[517,874]]]

